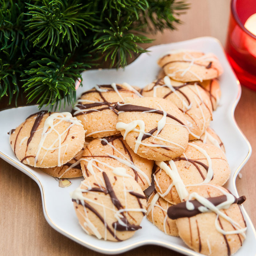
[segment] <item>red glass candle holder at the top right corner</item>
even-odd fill
[[[231,1],[226,52],[240,83],[256,90],[256,36],[244,28],[254,13],[256,0]]]

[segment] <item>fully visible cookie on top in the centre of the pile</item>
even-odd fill
[[[170,101],[143,97],[117,104],[117,130],[132,150],[147,159],[170,160],[180,156],[188,144],[186,119]]]

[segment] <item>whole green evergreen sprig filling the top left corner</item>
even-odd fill
[[[39,108],[73,104],[82,71],[102,57],[124,67],[151,42],[141,32],[174,29],[187,8],[183,0],[0,0],[0,98],[11,103],[23,91]]]

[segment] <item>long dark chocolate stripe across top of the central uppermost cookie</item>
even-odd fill
[[[136,105],[132,105],[132,104],[119,105],[117,103],[115,105],[115,109],[118,110],[118,111],[124,111],[124,112],[145,112],[145,111],[155,110],[155,111],[152,111],[152,112],[149,112],[149,113],[164,115],[164,112],[162,110],[154,109],[154,108],[148,108],[148,107],[142,107],[142,106],[136,106]],[[172,116],[168,113],[167,113],[166,116],[172,118],[173,120],[177,121],[178,123],[180,123],[182,125],[185,125],[175,116]]]

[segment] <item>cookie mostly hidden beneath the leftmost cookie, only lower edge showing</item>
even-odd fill
[[[83,176],[79,159],[83,155],[84,148],[89,144],[92,139],[85,138],[84,147],[74,156],[68,163],[62,166],[41,168],[42,171],[57,178],[76,178]]]

